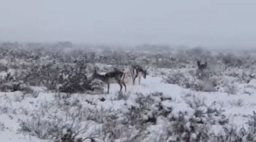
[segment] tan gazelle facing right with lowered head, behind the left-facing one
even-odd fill
[[[130,68],[131,77],[133,78],[133,85],[135,85],[135,80],[138,77],[139,78],[139,85],[141,84],[141,77],[146,79],[147,70],[143,69],[139,65],[133,65]]]

